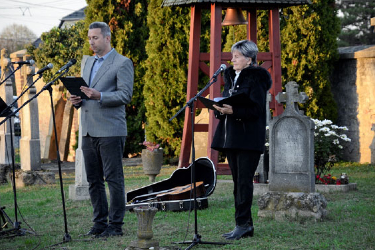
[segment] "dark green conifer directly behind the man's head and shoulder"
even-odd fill
[[[139,143],[144,140],[145,106],[143,98],[144,61],[147,58],[145,42],[148,38],[147,0],[87,0],[85,10],[85,29],[82,35],[87,37],[88,26],[94,21],[108,23],[112,31],[111,44],[116,51],[134,64],[133,99],[126,106],[128,136],[125,155],[140,152]],[[84,54],[92,54],[88,41],[84,45]]]

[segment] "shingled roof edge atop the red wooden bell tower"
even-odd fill
[[[223,5],[240,5],[241,7],[246,7],[247,4],[256,5],[277,5],[277,6],[295,6],[303,4],[311,4],[310,0],[164,0],[161,4],[162,7],[167,6],[180,6],[180,5],[192,5],[192,4],[203,4],[219,2]]]

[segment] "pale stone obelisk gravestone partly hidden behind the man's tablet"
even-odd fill
[[[88,59],[87,55],[82,58],[81,74]],[[75,185],[69,186],[69,198],[71,200],[87,200],[90,199],[88,192],[88,181],[86,175],[86,168],[84,165],[83,151],[82,151],[82,122],[80,108],[78,110],[79,117],[79,135],[78,135],[78,148],[75,151]]]

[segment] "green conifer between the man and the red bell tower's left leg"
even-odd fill
[[[190,8],[161,8],[162,1],[148,5],[146,137],[162,143],[165,155],[174,156],[180,151],[184,113],[168,120],[186,103]]]

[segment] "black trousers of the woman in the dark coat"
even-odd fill
[[[253,225],[251,216],[254,194],[254,174],[260,152],[251,150],[228,150],[226,156],[234,181],[234,203],[236,225]]]

